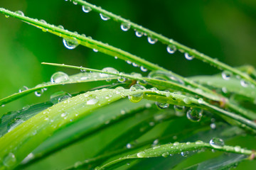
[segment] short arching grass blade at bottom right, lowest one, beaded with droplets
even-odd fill
[[[142,152],[138,152],[137,154],[128,155],[127,157],[122,157],[116,159],[112,162],[109,162],[103,166],[100,166],[100,169],[110,168],[119,162],[127,161],[127,159],[142,159],[142,158],[151,158],[151,157],[169,157],[169,154],[185,154],[185,152],[200,150],[200,149],[215,149],[222,152],[230,152],[236,154],[246,154],[251,155],[254,154],[251,150],[248,149],[240,149],[239,151],[235,149],[235,147],[224,145],[224,146],[213,146],[204,142],[187,142],[187,143],[174,143],[174,144],[166,144],[159,145],[156,147],[151,147],[149,149],[145,149]]]

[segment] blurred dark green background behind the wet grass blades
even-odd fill
[[[231,66],[256,66],[255,0],[89,2]],[[137,38],[132,29],[123,32],[119,23],[102,21],[95,12],[83,13],[81,6],[75,6],[69,1],[9,0],[1,1],[0,6],[11,11],[23,11],[26,16],[44,19],[55,26],[63,25],[80,34],[85,33],[95,40],[107,42],[185,77],[219,72],[201,61],[186,60],[180,52],[170,55],[166,52],[166,46],[160,42],[150,45],[146,37]],[[0,57],[1,98],[18,92],[22,86],[33,87],[49,81],[54,72],[79,72],[42,65],[41,62],[82,65],[94,69],[114,67],[120,72],[140,72],[138,67],[132,67],[122,60],[114,60],[114,57],[100,52],[93,52],[81,45],[75,50],[68,50],[61,38],[4,15],[0,15]],[[31,94],[1,107],[0,111],[5,113],[21,109],[27,104],[48,101],[50,94],[60,89],[75,93],[98,85],[99,83],[58,86],[49,89],[40,98]],[[238,141],[242,145],[243,140]]]

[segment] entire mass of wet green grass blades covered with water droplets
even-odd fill
[[[87,1],[72,2],[84,13],[92,11],[103,21],[119,23],[123,31],[133,29],[137,37],[146,36],[151,45],[161,42],[169,54],[201,60],[221,73],[183,77],[90,36],[0,8],[6,18],[57,35],[68,50],[81,45],[142,71],[128,74],[112,67],[100,70],[42,62],[48,68],[80,73],[55,72],[46,83],[23,86],[0,99],[4,107],[28,94],[39,97],[58,88],[47,101],[0,113],[0,170],[230,169],[254,162],[255,146],[250,142],[256,133],[256,72],[252,66],[231,67]],[[95,88],[70,87],[76,91],[72,94],[60,86],[92,83]]]

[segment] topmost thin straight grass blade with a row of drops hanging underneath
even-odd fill
[[[185,45],[181,45],[180,43],[166,38],[163,35],[160,35],[158,33],[155,33],[154,31],[151,31],[149,29],[146,29],[142,26],[137,25],[136,23],[132,23],[131,21],[128,21],[127,19],[122,18],[121,16],[117,16],[114,13],[110,13],[100,7],[97,7],[95,5],[92,5],[90,3],[87,3],[86,1],[82,0],[73,0],[74,2],[77,2],[81,6],[85,6],[87,8],[90,8],[92,11],[96,11],[97,13],[101,13],[102,15],[106,16],[107,18],[112,18],[114,21],[117,21],[118,23],[125,24],[129,28],[133,28],[135,31],[139,31],[140,33],[145,33],[148,38],[159,40],[163,44],[171,45],[172,48],[175,50],[178,49],[180,52],[184,52],[185,54],[192,55],[193,57],[196,57],[198,60],[202,60],[203,62],[207,62],[210,65],[213,65],[214,67],[217,67],[221,70],[226,70],[228,72],[232,72],[235,75],[239,75],[242,79],[245,79],[246,81],[249,81],[252,84],[256,85],[256,81],[252,79],[248,74],[245,74],[244,72],[240,72],[239,69],[235,69],[233,67],[230,67],[228,64],[224,64],[223,62],[220,62],[218,60],[215,60],[207,55],[204,55],[201,52],[198,52],[194,49],[191,49],[189,47],[186,47]]]

